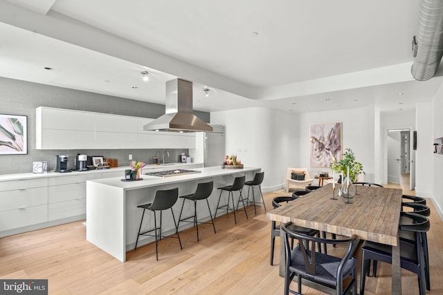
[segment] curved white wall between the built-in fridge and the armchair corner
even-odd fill
[[[244,108],[210,114],[211,124],[226,126],[226,153],[245,166],[264,171],[263,191],[284,185],[287,167],[298,163],[298,115],[269,108]]]

